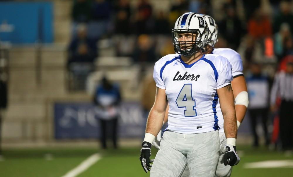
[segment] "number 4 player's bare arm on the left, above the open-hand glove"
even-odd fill
[[[147,119],[146,133],[158,135],[163,125],[167,104],[165,89],[157,87],[155,103]]]

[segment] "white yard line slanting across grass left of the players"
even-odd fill
[[[100,154],[93,154],[90,157],[88,157],[86,160],[81,162],[77,167],[74,169],[70,170],[68,173],[66,173],[62,177],[75,177],[79,175],[80,173],[86,171],[90,166],[95,164],[98,160],[100,160],[102,157]]]

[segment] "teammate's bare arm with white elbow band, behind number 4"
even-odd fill
[[[238,100],[240,98],[240,102],[235,103],[235,110],[236,110],[237,121],[241,123],[244,119],[244,116],[247,110],[247,105],[248,105],[248,97],[245,96],[244,99],[242,98],[243,97],[242,94],[247,94],[247,86],[246,86],[246,81],[244,76],[241,75],[234,78],[231,81],[231,86],[233,89],[234,100]]]

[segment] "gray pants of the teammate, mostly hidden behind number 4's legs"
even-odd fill
[[[219,137],[220,137],[220,158],[219,158],[219,163],[217,166],[217,171],[216,171],[216,177],[229,177],[231,176],[231,172],[232,172],[232,166],[224,165],[224,154],[225,154],[225,147],[226,147],[226,136],[224,132],[219,133]],[[186,166],[183,174],[181,177],[189,177],[189,171],[188,171],[188,166]]]

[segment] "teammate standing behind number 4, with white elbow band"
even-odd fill
[[[247,86],[246,81],[243,75],[243,66],[242,66],[242,59],[239,53],[234,51],[233,49],[229,48],[214,48],[214,45],[218,41],[218,26],[215,20],[208,15],[203,15],[207,24],[209,26],[209,38],[207,40],[207,45],[204,48],[205,54],[217,54],[224,56],[226,59],[229,60],[232,66],[232,76],[233,80],[231,81],[231,86],[233,89],[234,94],[234,101],[235,101],[235,110],[236,110],[236,117],[237,117],[237,129],[239,128],[243,118],[245,116],[247,107],[248,107],[248,93],[247,93]],[[221,101],[220,101],[221,102]],[[225,154],[225,146],[226,146],[226,137],[224,134],[224,119],[223,115],[220,111],[220,102],[218,102],[216,106],[218,119],[219,119],[219,136],[220,136],[220,159],[217,167],[216,177],[229,177],[231,175],[232,166],[225,166],[224,165],[224,154]]]

